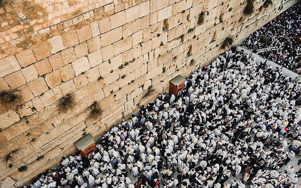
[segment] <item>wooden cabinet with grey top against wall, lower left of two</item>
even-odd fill
[[[81,156],[85,158],[88,158],[89,154],[96,150],[95,140],[91,136],[91,134],[87,134],[85,137],[77,141],[74,145]]]

